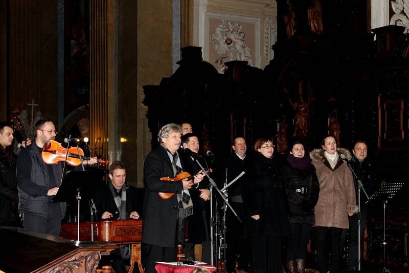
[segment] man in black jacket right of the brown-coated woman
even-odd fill
[[[350,163],[358,179],[362,182],[363,188],[371,197],[371,195],[376,191],[376,178],[373,166],[368,161],[368,146],[365,141],[355,142],[354,149],[352,150],[354,156],[352,157]],[[355,189],[356,189],[356,203],[358,203],[358,183],[357,179],[354,178]],[[368,205],[365,204],[367,197],[363,194],[361,190],[361,222],[360,222],[360,237],[362,242],[363,231],[365,230],[365,224],[367,222],[368,216]],[[354,214],[349,217],[349,256],[348,256],[348,270],[358,269],[358,214]]]

